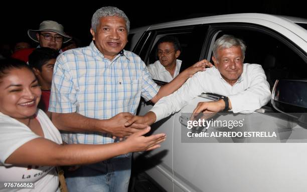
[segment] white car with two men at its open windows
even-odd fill
[[[281,70],[289,71],[286,74],[289,79],[294,79],[296,76],[300,79],[300,76],[303,75],[301,70],[304,69],[304,65],[307,68],[307,30],[297,23],[306,25],[307,19],[266,14],[211,16],[133,29],[130,32],[132,38],[129,41],[131,50],[134,50],[146,64],[149,64],[150,53],[154,50],[157,38],[166,34],[176,35],[177,31],[178,34],[185,33],[185,30],[189,31],[189,26],[192,26],[193,29],[188,33],[193,35],[195,29],[196,31],[198,28],[207,29],[204,31],[206,37],[203,37],[203,49],[199,50],[200,58],[197,59],[210,60],[212,44],[220,33],[231,32],[248,39],[249,36],[246,32],[250,32],[251,35],[259,35],[262,39],[272,39],[272,42],[277,42],[278,45],[274,46],[273,43],[262,42],[262,39],[259,39],[260,45],[257,47],[256,41],[252,37],[250,39],[250,42],[254,42],[254,51],[264,47],[267,52],[277,47],[272,51],[274,52],[272,58],[276,61],[278,59],[280,61],[282,55],[286,61],[291,61],[292,58],[286,58],[287,55],[283,51],[287,51],[287,48],[292,50],[293,53],[289,53],[289,57],[296,54],[297,59],[293,60],[294,63],[290,62],[288,67],[284,67],[285,64],[282,64],[284,68]],[[147,46],[149,40],[151,43],[148,43]],[[187,40],[187,42],[190,41]],[[284,45],[284,48],[278,49],[280,45]],[[272,49],[266,49],[266,46],[272,46]],[[247,53],[248,48],[247,42]],[[187,53],[188,49],[185,51]],[[278,53],[278,51],[280,52]],[[260,55],[259,57],[263,56],[264,60],[267,58],[265,53],[261,52]],[[186,58],[190,58],[190,56]],[[254,58],[257,57],[251,57],[251,59]],[[293,69],[296,68],[297,61],[302,61],[302,66],[297,67],[300,76],[295,75],[295,69]],[[280,78],[278,76],[278,74],[280,75],[279,68],[277,68],[278,66],[274,67],[274,72],[277,73],[276,78],[272,79],[274,82]],[[270,70],[267,71],[269,74]],[[305,78],[307,79],[307,73]],[[264,106],[256,111],[264,119],[265,124],[262,126],[272,131],[285,128],[285,132],[289,133],[287,139],[280,139],[277,143],[183,143],[181,141],[180,116],[184,113],[192,113],[200,101],[210,101],[210,99],[196,97],[181,111],[151,126],[155,129],[154,133],[166,133],[167,140],[162,143],[161,148],[146,153],[145,157],[148,159],[146,162],[149,163],[151,161],[149,159],[160,162],[152,161],[155,166],[145,172],[166,191],[306,191],[306,127],[302,127],[296,121],[289,122],[284,117],[271,115],[270,112],[274,112],[273,109],[270,106]],[[142,101],[138,114],[145,114],[151,107],[150,103]],[[141,155],[141,153],[137,155]]]

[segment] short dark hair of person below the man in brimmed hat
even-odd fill
[[[42,71],[42,66],[49,60],[56,59],[58,55],[59,52],[55,49],[49,47],[37,48],[29,55],[29,65],[32,68]]]

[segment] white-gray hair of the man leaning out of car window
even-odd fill
[[[218,56],[217,51],[218,51],[219,48],[226,49],[226,48],[231,48],[231,47],[235,47],[235,46],[241,47],[241,51],[242,51],[242,55],[243,55],[243,59],[244,59],[245,58],[246,45],[241,39],[236,38],[232,35],[223,35],[222,37],[220,37],[219,39],[217,39],[214,42],[214,45],[213,45],[213,48],[212,48],[213,56],[215,58],[217,58],[217,56]]]

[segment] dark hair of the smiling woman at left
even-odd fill
[[[27,68],[30,71],[32,71],[32,69],[25,62],[21,60],[12,59],[12,58],[0,60],[0,79],[9,74],[10,70],[22,69],[22,68]]]

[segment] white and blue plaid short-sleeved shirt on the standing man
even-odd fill
[[[124,50],[110,61],[92,42],[57,58],[49,111],[77,112],[95,119],[109,119],[121,112],[135,114],[140,97],[150,100],[159,88],[137,55]],[[114,142],[111,137],[98,132],[62,134],[67,143]]]

